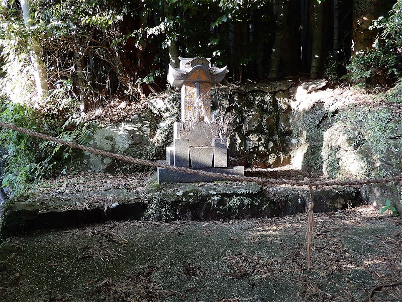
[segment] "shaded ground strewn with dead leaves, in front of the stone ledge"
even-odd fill
[[[372,206],[306,214],[157,223],[109,221],[10,238],[3,302],[368,301],[402,277],[402,220]],[[372,292],[401,301],[402,285]]]

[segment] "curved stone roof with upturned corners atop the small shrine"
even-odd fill
[[[227,66],[212,67],[211,58],[195,57],[180,59],[180,67],[169,64],[167,80],[171,86],[180,88],[184,82],[209,82],[211,85],[220,83],[224,78]]]

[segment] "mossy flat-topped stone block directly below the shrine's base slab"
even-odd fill
[[[263,213],[262,186],[255,183],[159,184],[147,194],[151,220],[210,220]]]

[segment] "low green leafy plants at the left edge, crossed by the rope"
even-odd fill
[[[83,121],[80,115],[72,115],[63,123],[46,112],[13,102],[1,104],[0,119],[81,144],[88,142],[94,126],[92,122]],[[7,128],[0,129],[0,148],[5,165],[2,185],[13,189],[13,195],[30,181],[47,178],[56,171],[66,173],[71,167],[71,148],[50,141],[43,142]]]

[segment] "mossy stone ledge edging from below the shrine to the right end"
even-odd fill
[[[159,184],[149,189],[147,218],[171,221],[251,218],[305,212],[309,188],[269,187],[256,183]],[[315,212],[328,212],[361,204],[356,188],[313,192]],[[218,218],[219,217],[219,218]]]

